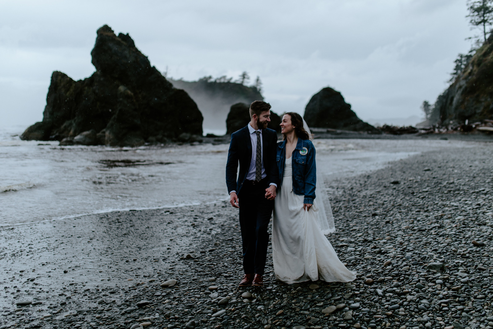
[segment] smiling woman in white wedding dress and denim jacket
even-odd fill
[[[298,113],[282,116],[278,143],[280,187],[274,205],[272,251],[276,278],[285,283],[349,282],[356,276],[339,260],[318,220],[325,216],[315,201],[315,147]],[[308,129],[308,127],[307,127]],[[321,178],[320,178],[321,179]],[[315,202],[315,203],[314,203]],[[317,207],[317,204],[320,207]]]

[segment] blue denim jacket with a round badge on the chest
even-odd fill
[[[279,180],[282,185],[282,175],[286,161],[286,141],[278,143],[277,164],[279,169]],[[315,186],[317,185],[317,168],[315,164],[315,146],[309,140],[298,138],[296,148],[291,155],[293,169],[293,192],[297,195],[304,195],[303,203],[313,204],[315,199]]]

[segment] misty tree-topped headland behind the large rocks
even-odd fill
[[[176,88],[185,90],[197,103],[204,116],[204,128],[221,131],[224,130],[224,121],[217,118],[226,117],[233,104],[251,104],[253,101],[264,100],[255,86],[224,80],[212,80],[211,76],[206,76],[197,81],[170,79],[170,82]]]

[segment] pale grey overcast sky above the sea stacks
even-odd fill
[[[466,14],[465,0],[0,0],[0,125],[42,119],[53,71],[90,76],[104,24],[174,78],[259,75],[278,113],[330,86],[363,120],[421,116],[471,46]]]

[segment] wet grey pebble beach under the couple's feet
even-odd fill
[[[1,227],[0,329],[493,328],[492,147],[331,180],[347,284],[286,285],[268,262],[265,288],[238,289],[225,201]]]

